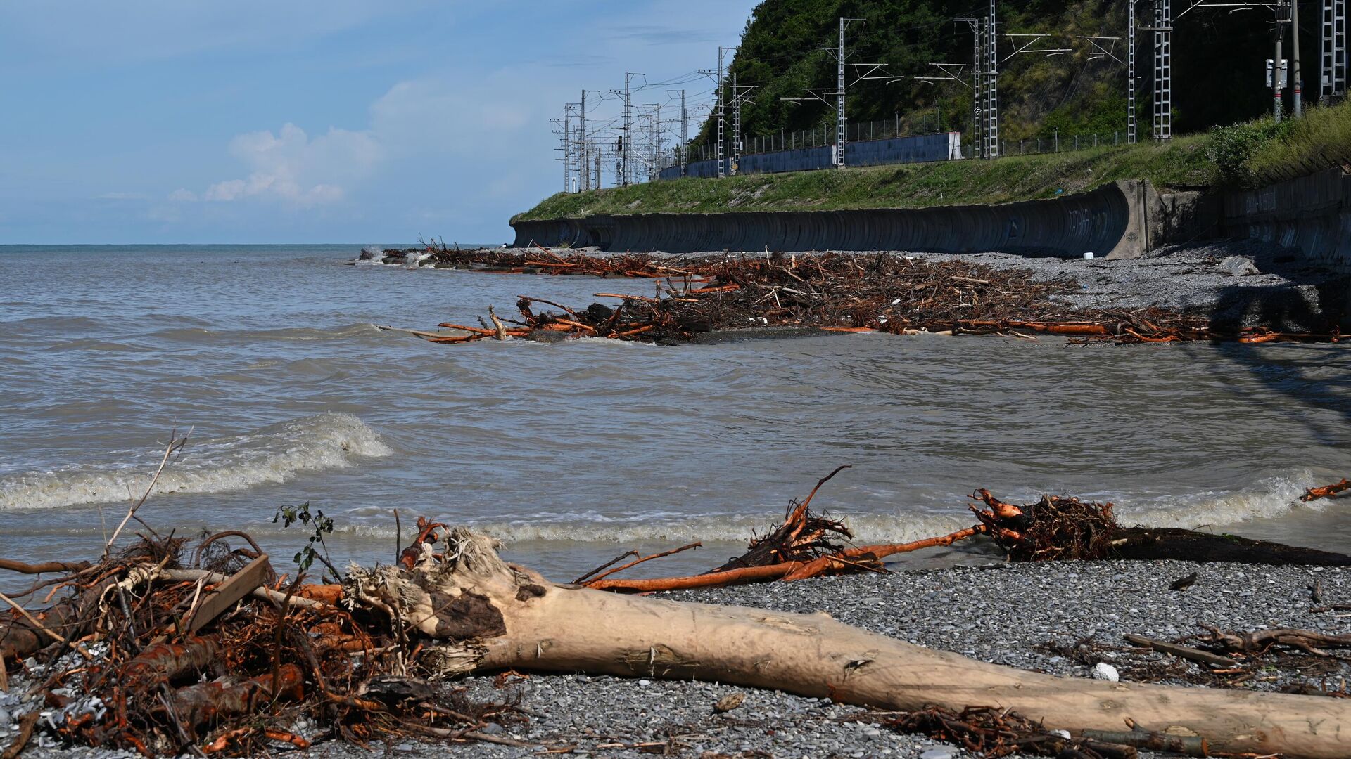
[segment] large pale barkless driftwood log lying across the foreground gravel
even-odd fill
[[[707,679],[885,709],[1012,709],[1047,728],[1120,731],[1125,720],[1200,735],[1221,752],[1340,759],[1351,702],[1337,698],[1058,678],[911,646],[832,620],[554,585],[457,529],[409,570],[354,570],[349,602],[440,642],[446,674],[499,669]],[[424,655],[424,660],[426,660]]]

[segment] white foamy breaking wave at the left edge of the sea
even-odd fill
[[[155,493],[226,493],[285,482],[303,471],[343,469],[393,451],[350,413],[322,413],[247,435],[189,440]],[[0,477],[0,512],[126,501],[145,492],[158,463],[81,465]]]

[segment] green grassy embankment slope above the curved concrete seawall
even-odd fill
[[[1351,103],[1301,120],[1259,119],[1204,135],[1075,153],[844,170],[674,180],[558,193],[516,219],[593,213],[717,213],[993,204],[1144,178],[1161,189],[1259,186],[1351,163]]]

